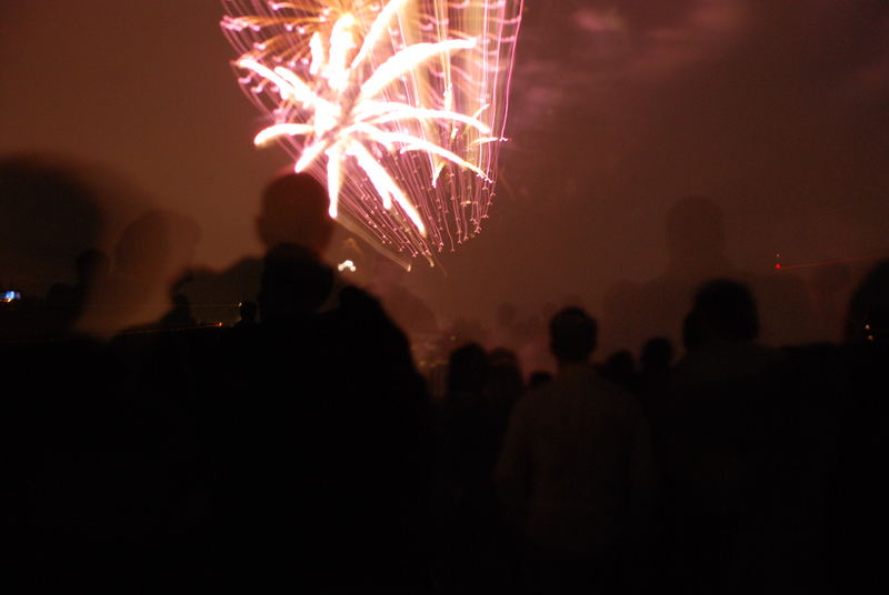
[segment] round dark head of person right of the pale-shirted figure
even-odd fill
[[[695,296],[696,324],[701,341],[752,341],[759,336],[757,304],[743,283],[717,279]]]

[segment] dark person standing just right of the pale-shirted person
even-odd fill
[[[685,326],[693,349],[650,406],[667,496],[665,548],[689,593],[722,593],[763,487],[773,437],[765,377],[780,357],[756,343],[756,302],[735,281],[703,284]]]

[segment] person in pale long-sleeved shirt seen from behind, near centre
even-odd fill
[[[643,575],[636,563],[655,478],[649,431],[633,396],[590,364],[596,333],[581,309],[553,316],[559,373],[517,403],[497,466],[533,593],[620,593]]]

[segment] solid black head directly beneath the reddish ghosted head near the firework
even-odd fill
[[[308,248],[281,244],[266,255],[259,289],[263,322],[298,319],[316,312],[333,286],[333,272]]]

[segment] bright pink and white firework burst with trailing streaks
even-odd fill
[[[239,82],[330,216],[430,260],[481,231],[522,0],[223,0]]]

